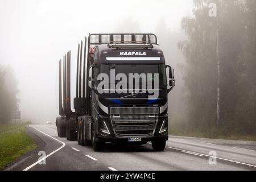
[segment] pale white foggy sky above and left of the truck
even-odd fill
[[[0,0],[0,64],[14,69],[23,120],[55,121],[58,61],[69,50],[74,96],[77,43],[89,32],[122,30],[127,20],[137,22],[145,33],[157,34],[159,22],[170,31],[180,31],[181,18],[191,11],[192,0]]]

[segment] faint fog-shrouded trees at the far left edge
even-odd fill
[[[13,70],[0,65],[0,123],[11,119],[11,111],[18,108],[18,89]]]

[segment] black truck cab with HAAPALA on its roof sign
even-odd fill
[[[168,85],[166,68],[156,44],[113,43],[94,48],[89,87],[99,144],[150,141],[155,150],[163,150],[168,140],[168,92],[174,86],[174,71],[171,69]],[[147,79],[150,75],[151,80]]]

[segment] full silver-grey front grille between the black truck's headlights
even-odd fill
[[[110,107],[110,120],[117,137],[152,137],[159,107]]]

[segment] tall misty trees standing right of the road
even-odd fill
[[[209,16],[208,5],[212,2],[217,5],[217,17]],[[178,44],[187,61],[184,83],[189,121],[181,122],[184,126],[175,130],[180,128],[182,133],[204,133],[215,138],[255,137],[256,1],[194,0],[194,5],[194,16],[181,22],[188,39]],[[220,123],[217,125],[218,57]]]

